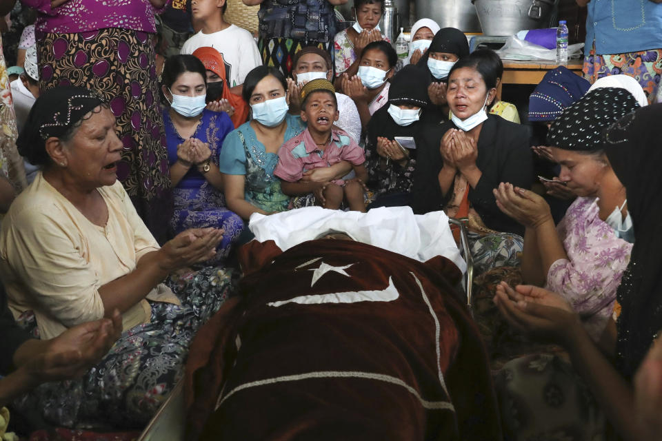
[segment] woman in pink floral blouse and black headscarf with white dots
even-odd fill
[[[541,196],[508,183],[494,190],[501,211],[526,228],[524,283],[565,296],[594,340],[600,340],[614,311],[633,237],[625,187],[602,150],[601,132],[636,107],[624,89],[599,89],[552,123],[548,141],[561,165],[559,178],[579,196],[558,226]]]

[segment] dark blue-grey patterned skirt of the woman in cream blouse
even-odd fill
[[[37,425],[142,429],[181,378],[192,338],[227,300],[233,277],[218,267],[171,276],[181,306],[150,302],[150,322],[125,330],[83,378],[41,384],[14,400],[14,409]],[[19,325],[38,337],[34,316],[24,316]]]

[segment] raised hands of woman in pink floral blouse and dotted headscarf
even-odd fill
[[[496,206],[525,227],[536,228],[552,220],[548,203],[542,196],[530,190],[513,187],[510,183],[500,183],[499,188],[492,191]]]

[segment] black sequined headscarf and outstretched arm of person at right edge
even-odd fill
[[[616,294],[620,308],[615,309],[616,333],[607,355],[559,294],[531,286],[513,290],[502,284],[494,297],[514,327],[568,351],[572,367],[588,384],[610,424],[628,441],[650,440],[637,424],[630,381],[662,329],[662,271],[656,257],[662,247],[659,121],[662,104],[650,105],[624,116],[605,132],[605,152],[625,185],[634,224],[632,258]],[[610,360],[614,355],[615,367]]]

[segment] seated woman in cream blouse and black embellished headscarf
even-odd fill
[[[115,309],[122,315],[124,334],[83,378],[41,384],[15,403],[64,427],[143,427],[230,285],[216,267],[186,271],[214,256],[222,230],[188,229],[159,247],[117,180],[116,130],[97,92],[43,93],[17,141],[41,171],[12,203],[0,232],[9,306],[33,335],[54,338]],[[179,277],[170,276],[175,271]]]

